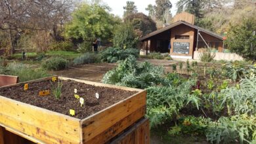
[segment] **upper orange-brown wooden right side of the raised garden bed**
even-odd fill
[[[144,105],[146,105],[146,90],[81,120],[83,142],[93,139],[93,137],[101,134],[104,130],[107,130],[123,118],[131,115],[131,113],[137,111],[137,109],[140,109]]]

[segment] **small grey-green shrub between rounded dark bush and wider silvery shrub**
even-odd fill
[[[79,56],[78,58],[75,58],[73,60],[74,65],[81,65],[86,63],[98,63],[100,62],[100,55],[94,54],[94,53],[85,53],[82,56]]]

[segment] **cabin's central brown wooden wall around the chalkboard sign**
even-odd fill
[[[189,39],[175,39],[175,35],[189,35]],[[185,42],[190,43],[188,54],[177,54],[173,53],[173,43],[174,42]],[[194,46],[194,28],[186,26],[184,24],[171,29],[171,55],[173,56],[192,56]]]

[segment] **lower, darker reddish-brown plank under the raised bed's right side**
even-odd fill
[[[146,114],[146,105],[143,107],[140,107],[137,111],[131,113],[131,115],[123,118],[104,132],[102,132],[99,135],[96,135],[93,139],[88,141],[88,144],[93,143],[106,143],[113,137],[115,137],[117,134],[125,130],[125,128],[131,126],[133,123],[135,123],[138,119],[144,117]]]

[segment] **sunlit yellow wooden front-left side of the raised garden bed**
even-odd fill
[[[0,96],[0,124],[46,143],[79,143],[79,119]]]

